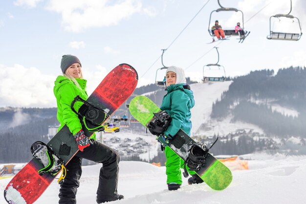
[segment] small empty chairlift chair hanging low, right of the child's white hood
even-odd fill
[[[215,64],[208,64],[208,65],[204,65],[203,66],[203,83],[205,82],[223,82],[225,81],[225,69],[222,65],[219,65],[219,51],[218,51],[218,47],[215,47],[218,53],[218,61]],[[218,69],[211,69],[211,67],[217,67]],[[222,75],[220,76],[213,76],[211,74],[207,74],[208,70],[220,70],[220,73],[222,73]],[[208,71],[210,72],[210,71]]]

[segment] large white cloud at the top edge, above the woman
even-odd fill
[[[62,14],[67,31],[115,25],[141,11],[140,0],[50,0],[47,9]]]

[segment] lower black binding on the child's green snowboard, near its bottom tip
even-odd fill
[[[210,148],[214,146],[217,140],[218,137],[216,141],[210,146]],[[197,142],[192,145],[192,147],[189,150],[188,157],[183,164],[184,165],[183,175],[185,178],[189,176],[186,165],[189,167],[189,170],[191,171],[200,170],[205,163],[205,159],[207,157],[210,148],[207,148],[207,145],[205,143],[203,144],[202,142]]]

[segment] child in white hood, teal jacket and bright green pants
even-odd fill
[[[195,100],[193,91],[186,84],[184,70],[175,66],[167,68],[166,80],[167,94],[163,98],[160,109],[169,113],[172,120],[164,135],[171,139],[179,129],[190,135],[192,128],[190,110],[195,106]],[[165,155],[168,189],[177,190],[182,184],[180,168],[184,161],[168,146],[165,147]]]

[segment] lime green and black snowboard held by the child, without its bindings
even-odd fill
[[[150,98],[142,95],[138,95],[131,100],[129,110],[131,115],[146,127],[153,119],[153,113],[161,111]],[[185,161],[194,143],[196,141],[180,129],[174,138],[170,140],[168,146]],[[196,173],[214,190],[225,189],[233,179],[232,172],[209,153],[204,165]]]

